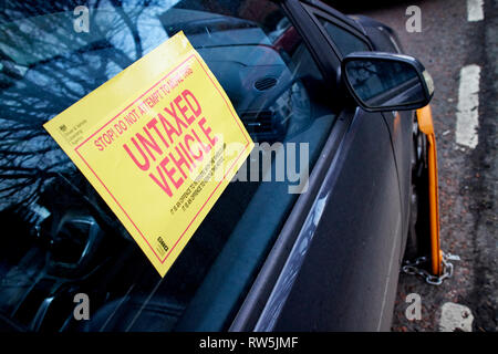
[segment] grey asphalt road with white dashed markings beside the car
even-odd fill
[[[470,4],[468,9],[467,1],[474,2],[474,7]],[[415,275],[401,274],[393,331],[442,330],[442,308],[448,302],[469,309],[471,314],[464,313],[461,317],[466,321],[463,319],[474,316],[468,330],[497,330],[498,6],[497,0],[484,0],[484,19],[479,20],[480,9],[475,7],[478,2],[391,1],[377,9],[372,6],[347,9],[347,13],[366,14],[392,27],[405,52],[418,58],[433,75],[442,247],[461,258],[453,262],[454,277],[439,287],[426,284]],[[421,9],[421,32],[406,30],[411,17],[405,12],[409,6]],[[469,21],[469,15],[475,21]],[[463,71],[464,67],[470,70]],[[474,72],[474,79],[467,76],[468,72]],[[477,119],[476,131],[469,121],[473,115]],[[421,320],[409,321],[405,315],[409,293],[421,296]],[[466,331],[466,327],[461,323],[453,330]]]

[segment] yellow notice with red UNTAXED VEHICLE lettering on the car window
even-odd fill
[[[162,277],[253,147],[183,32],[44,127]]]

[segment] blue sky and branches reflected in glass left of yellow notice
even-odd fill
[[[94,8],[95,1],[89,2],[89,33],[74,30],[73,21],[79,15],[73,11],[20,19],[19,12],[6,10],[9,19],[17,20],[0,22],[0,51],[13,63],[6,61],[0,70],[14,67],[18,76],[3,77],[8,84],[0,91],[3,107],[0,150],[10,152],[0,156],[0,174],[6,175],[0,176],[0,210],[10,201],[10,198],[3,198],[11,191],[6,188],[19,185],[17,194],[11,197],[23,198],[34,190],[40,181],[38,178],[43,178],[37,170],[61,171],[71,167],[46,134],[37,135],[43,129],[41,124],[168,38],[158,15],[177,1],[162,1],[160,7],[152,2],[147,8],[141,7],[141,2],[126,1],[123,6],[128,23],[110,1],[100,2],[97,9]],[[9,14],[9,11],[12,12]],[[135,29],[141,52],[135,46]],[[96,43],[104,41],[106,45],[95,48]],[[116,52],[121,53],[122,60],[116,60]],[[4,178],[18,170],[28,171],[33,181],[24,185],[27,179],[22,177]]]

